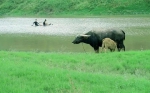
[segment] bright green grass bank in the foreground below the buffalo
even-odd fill
[[[0,51],[2,93],[149,93],[150,51]]]

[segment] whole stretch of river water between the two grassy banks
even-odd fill
[[[50,26],[31,26],[35,18],[0,18],[0,50],[94,52],[87,44],[71,42],[92,29],[120,28],[126,50],[150,49],[150,18],[46,18]],[[45,18],[37,18],[42,24]]]

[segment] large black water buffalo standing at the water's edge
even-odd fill
[[[103,29],[103,30],[91,30],[84,35],[78,35],[72,42],[74,44],[79,44],[81,42],[90,44],[96,53],[99,52],[99,47],[102,46],[102,40],[104,38],[110,38],[117,43],[118,51],[123,49],[125,51],[125,46],[123,41],[125,40],[125,32],[120,29]]]

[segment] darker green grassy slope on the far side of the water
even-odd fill
[[[149,8],[149,0],[1,0],[0,16],[137,15]]]

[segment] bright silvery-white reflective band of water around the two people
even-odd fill
[[[35,18],[0,18],[0,33],[30,33],[48,35],[77,35],[99,28],[150,27],[150,18],[47,18],[53,25],[31,26]],[[37,18],[40,24],[45,18]],[[126,29],[125,29],[126,30]],[[146,32],[147,33],[147,32]],[[149,31],[148,31],[149,33]]]

